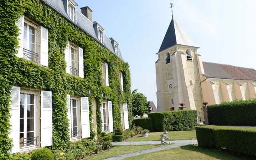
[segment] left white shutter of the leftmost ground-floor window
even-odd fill
[[[12,139],[12,154],[20,150],[20,87],[12,86],[10,102],[10,124],[11,130],[9,138]]]

